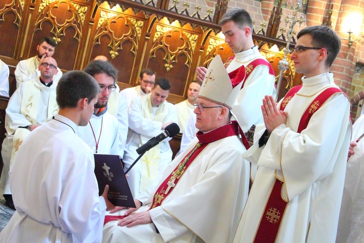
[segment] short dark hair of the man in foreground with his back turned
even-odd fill
[[[58,81],[56,101],[59,108],[75,108],[79,100],[87,98],[88,104],[97,97],[98,82],[83,71],[68,71]]]

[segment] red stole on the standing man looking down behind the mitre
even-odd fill
[[[235,57],[232,56],[230,57],[226,63],[225,63],[225,69],[229,66],[229,64],[232,62],[232,60]],[[269,74],[275,76],[274,74],[274,70],[272,68],[272,66],[270,66],[270,64],[265,60],[265,59],[255,59],[253,61],[251,61],[247,67],[241,66],[238,69],[233,70],[232,72],[229,73],[229,77],[230,80],[232,81],[232,88],[236,87],[237,85],[239,85],[241,82],[243,82],[243,85],[241,86],[240,89],[242,89],[244,87],[244,83],[245,81],[248,79],[250,73],[259,65],[265,65],[268,67],[269,69]]]

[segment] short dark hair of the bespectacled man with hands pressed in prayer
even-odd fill
[[[331,67],[337,54],[340,52],[341,40],[329,26],[315,25],[302,29],[298,32],[297,39],[302,35],[310,35],[314,47],[325,48],[327,51],[326,64]]]

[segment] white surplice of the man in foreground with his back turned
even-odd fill
[[[99,197],[94,155],[74,122],[55,119],[20,147],[10,171],[17,210],[0,242],[101,241],[106,205]]]

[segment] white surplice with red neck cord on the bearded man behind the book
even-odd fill
[[[119,147],[118,121],[107,111],[100,116],[92,114],[87,125],[79,127],[79,132],[80,138],[90,146],[93,153],[96,153],[98,142],[98,154],[123,156],[124,151]]]

